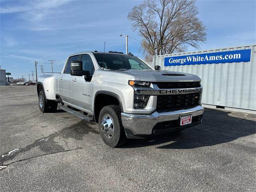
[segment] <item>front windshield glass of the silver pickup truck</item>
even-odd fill
[[[122,70],[122,69],[135,69],[135,70],[148,70],[150,68],[146,63],[135,56],[122,55],[122,54],[108,54],[108,53],[94,53],[94,56],[102,67],[106,70]]]

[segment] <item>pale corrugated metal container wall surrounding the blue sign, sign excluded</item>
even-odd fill
[[[251,49],[250,62],[164,66],[164,58]],[[161,70],[196,74],[202,79],[202,103],[228,108],[256,110],[256,45],[220,48],[198,52],[153,56]]]

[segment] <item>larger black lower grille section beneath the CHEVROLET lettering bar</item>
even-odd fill
[[[177,110],[200,105],[201,93],[157,96],[156,110]]]

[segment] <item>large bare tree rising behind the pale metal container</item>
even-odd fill
[[[206,41],[206,27],[197,17],[195,0],[145,0],[128,14],[142,36],[145,58],[183,52]]]

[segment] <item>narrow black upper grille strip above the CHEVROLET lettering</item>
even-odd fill
[[[160,89],[182,89],[182,88],[197,88],[200,87],[200,82],[153,82]]]

